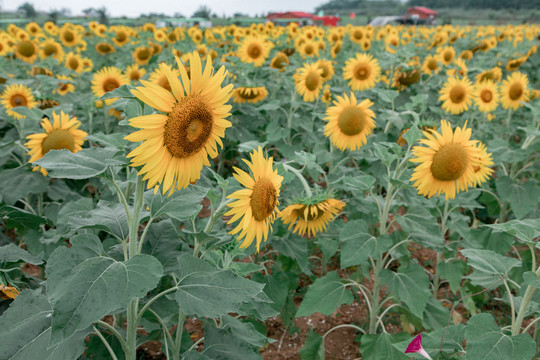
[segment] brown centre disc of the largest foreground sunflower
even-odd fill
[[[169,113],[163,142],[177,158],[186,158],[202,149],[212,135],[214,116],[198,95],[180,99]]]

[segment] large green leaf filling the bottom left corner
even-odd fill
[[[49,347],[53,309],[41,290],[24,290],[0,317],[0,359],[77,359],[84,339],[92,331],[84,328],[61,343]]]

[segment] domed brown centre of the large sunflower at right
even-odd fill
[[[453,181],[463,175],[468,164],[467,151],[461,144],[447,144],[433,156],[431,173],[437,180]]]

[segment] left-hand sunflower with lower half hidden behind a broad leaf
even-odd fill
[[[41,159],[50,150],[68,149],[72,153],[82,149],[82,144],[88,134],[79,130],[81,122],[76,117],[70,118],[63,111],[58,115],[53,111],[53,123],[44,118],[41,121],[41,127],[45,132],[28,135],[28,142],[24,144],[29,150],[30,160],[34,162]],[[41,171],[43,175],[47,175],[47,171],[40,166],[36,166],[34,171]]]

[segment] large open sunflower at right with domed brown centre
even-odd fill
[[[426,139],[420,143],[427,146],[414,146],[415,157],[410,160],[418,164],[410,181],[414,181],[420,195],[432,197],[442,193],[453,199],[459,191],[467,191],[487,179],[487,175],[480,174],[488,170],[477,173],[475,168],[489,166],[491,159],[477,140],[470,140],[471,129],[466,123],[452,131],[450,123],[441,120],[441,133],[424,131],[424,136]]]

